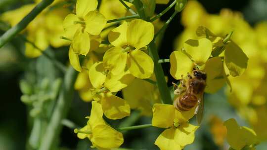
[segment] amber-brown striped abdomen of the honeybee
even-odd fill
[[[179,111],[189,111],[197,104],[197,97],[192,94],[185,94],[181,96],[177,102]]]

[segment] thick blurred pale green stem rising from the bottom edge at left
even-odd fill
[[[39,150],[51,150],[62,130],[62,120],[66,118],[69,106],[74,94],[74,82],[77,72],[70,66],[65,74],[64,82],[57,100],[57,104],[51,115],[51,119],[45,131]]]

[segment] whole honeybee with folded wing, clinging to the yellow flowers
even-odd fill
[[[198,124],[201,123],[203,117],[203,94],[206,87],[206,73],[194,69],[192,74],[187,74],[187,78],[180,80],[180,85],[174,84],[176,88],[174,94],[178,97],[174,100],[174,106],[178,111],[189,111],[196,105],[195,114]]]

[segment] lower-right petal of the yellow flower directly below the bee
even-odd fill
[[[194,142],[195,139],[195,131],[198,126],[194,126],[189,123],[182,123],[175,132],[175,141],[181,147],[184,147],[188,144]]]

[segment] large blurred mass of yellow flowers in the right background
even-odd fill
[[[226,82],[229,84],[226,90],[228,101],[242,118],[247,119],[257,133],[258,138],[266,140],[267,107],[265,104],[267,95],[265,90],[267,55],[266,37],[263,35],[267,33],[267,23],[260,22],[255,27],[251,27],[243,19],[240,12],[233,12],[229,9],[222,9],[220,14],[209,14],[196,0],[188,1],[185,9],[182,11],[181,23],[185,30],[175,42],[177,48],[181,48],[181,43],[188,38],[197,38],[200,35],[199,33],[201,33],[201,30],[198,30],[201,29],[198,28],[200,25],[210,29],[215,35],[219,36],[225,36],[229,31],[234,31],[231,39],[235,44],[230,44],[228,47],[235,49],[235,52],[240,51],[238,50],[238,47],[240,47],[249,60],[246,69],[244,69],[244,64],[237,63],[240,58],[235,57],[235,55],[231,54],[231,51],[226,51],[227,47],[225,48],[223,71],[227,76]],[[197,33],[195,30],[197,30]],[[220,44],[220,42],[214,44]],[[230,59],[239,64],[235,71],[231,71],[231,68],[235,65],[231,67],[232,63],[230,63],[229,59],[226,59],[226,55],[231,55],[232,58]],[[223,56],[223,52],[219,56]],[[245,58],[243,57],[243,59]],[[240,76],[235,77],[235,75]],[[206,87],[206,90],[208,89],[209,86]]]

